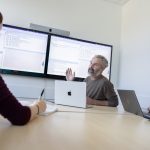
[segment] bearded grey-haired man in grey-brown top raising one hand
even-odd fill
[[[89,65],[89,76],[84,79],[86,82],[87,104],[99,106],[116,107],[118,97],[115,93],[113,84],[102,75],[108,66],[107,59],[102,55],[95,55]],[[75,72],[71,68],[66,70],[66,79],[74,80]]]

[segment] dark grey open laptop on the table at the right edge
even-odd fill
[[[122,105],[127,112],[150,119],[150,114],[148,112],[142,111],[134,90],[118,89],[117,91],[118,91],[120,100],[122,102]]]

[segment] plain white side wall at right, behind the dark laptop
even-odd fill
[[[119,87],[133,89],[143,107],[150,105],[150,1],[123,7]]]

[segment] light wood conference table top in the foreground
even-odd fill
[[[57,107],[24,126],[0,116],[0,150],[150,150],[143,117],[104,106]]]

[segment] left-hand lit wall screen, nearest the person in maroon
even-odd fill
[[[6,72],[44,73],[48,34],[4,25],[0,36],[0,68]]]

